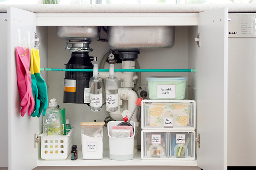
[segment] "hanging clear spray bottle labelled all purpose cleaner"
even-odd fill
[[[109,77],[106,78],[106,110],[118,110],[118,79],[115,77],[114,64],[110,64]]]

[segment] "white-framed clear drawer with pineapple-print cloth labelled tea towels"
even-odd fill
[[[141,128],[146,130],[194,130],[194,100],[142,100]]]

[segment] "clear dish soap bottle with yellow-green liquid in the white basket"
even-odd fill
[[[53,98],[50,101],[49,108],[47,108],[43,118],[43,133],[49,136],[63,135],[61,111],[58,108],[56,99]]]

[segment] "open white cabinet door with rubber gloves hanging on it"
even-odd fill
[[[18,29],[20,29],[23,46],[32,41],[36,32],[36,15],[21,9],[8,7],[8,169],[29,170],[36,167],[37,149],[34,148],[34,134],[37,131],[37,117],[20,115],[20,97],[17,87],[15,46],[18,46]],[[27,31],[31,40],[27,40]],[[4,90],[4,89],[3,89]]]

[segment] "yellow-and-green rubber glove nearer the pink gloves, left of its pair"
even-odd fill
[[[31,74],[31,83],[32,83],[32,93],[33,97],[35,100],[35,107],[33,110],[33,114],[31,114],[33,117],[37,116],[39,113],[39,108],[40,108],[40,99],[38,99],[38,88],[36,85],[36,78],[34,75],[34,62],[33,62],[33,57],[35,57],[35,49],[32,48],[31,53],[30,53],[30,74]]]

